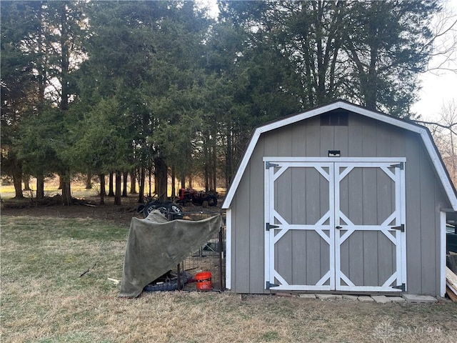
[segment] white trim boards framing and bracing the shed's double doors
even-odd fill
[[[283,290],[347,290],[347,291],[370,291],[370,292],[401,292],[402,289],[390,287],[393,282],[396,286],[406,286],[406,231],[399,232],[391,229],[391,223],[395,222],[395,226],[405,225],[406,218],[406,204],[405,204],[405,171],[404,157],[388,157],[388,158],[335,158],[335,157],[321,157],[321,158],[308,158],[308,157],[278,157],[278,156],[265,156],[263,161],[266,164],[276,164],[279,168],[265,168],[264,172],[264,209],[265,209],[265,225],[274,224],[271,230],[265,230],[265,282],[266,289],[283,289]],[[392,164],[401,164],[402,167],[396,167],[395,172],[392,172]],[[313,225],[293,225],[288,224],[285,219],[281,217],[274,207],[274,182],[278,177],[283,174],[289,167],[308,167],[316,169],[329,183],[329,210],[324,214],[321,219]],[[339,183],[346,177],[347,174],[356,167],[363,168],[379,168],[393,180],[395,183],[395,210],[381,225],[354,225],[351,221],[340,211],[340,195]],[[328,169],[326,172],[323,168]],[[340,168],[344,168],[341,170]],[[273,205],[271,205],[273,204]],[[275,220],[276,219],[276,220]],[[329,225],[323,225],[327,219]],[[336,226],[340,227],[343,224],[341,219],[349,229],[336,230]],[[330,249],[330,267],[326,274],[315,285],[300,285],[288,284],[283,277],[281,277],[275,270],[274,266],[274,244],[278,242],[284,234],[289,230],[314,230],[319,236],[329,244]],[[328,235],[324,232],[328,231]],[[396,246],[396,271],[393,272],[391,277],[383,283],[382,286],[356,286],[348,279],[346,275],[341,272],[340,261],[340,245],[353,232],[356,231],[380,231],[382,232],[395,246]],[[342,231],[345,231],[341,234]],[[276,234],[275,234],[276,232]],[[395,234],[393,234],[395,232]],[[341,234],[341,236],[340,236]],[[278,280],[281,284],[274,285],[274,280]],[[330,279],[328,285],[324,285]],[[341,280],[347,284],[341,284]],[[271,286],[269,286],[271,285]]]

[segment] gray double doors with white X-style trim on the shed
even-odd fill
[[[266,289],[406,289],[406,159],[263,161]]]

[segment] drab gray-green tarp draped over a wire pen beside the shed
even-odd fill
[[[146,219],[132,218],[119,297],[138,297],[147,284],[202,247],[221,225],[221,215],[169,222],[154,210]]]

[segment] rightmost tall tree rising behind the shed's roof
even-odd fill
[[[347,17],[344,49],[356,96],[368,109],[408,116],[433,46],[436,1],[356,1]]]

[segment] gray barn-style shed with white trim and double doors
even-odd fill
[[[456,189],[413,121],[335,101],[258,126],[222,208],[232,292],[446,291]]]

